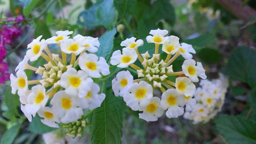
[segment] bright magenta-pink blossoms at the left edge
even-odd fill
[[[8,18],[4,22],[14,22],[12,24],[0,26],[0,84],[5,84],[9,80],[8,64],[4,61],[7,54],[6,45],[12,44],[13,39],[19,37],[22,32],[18,22],[23,20],[23,16],[17,18]]]

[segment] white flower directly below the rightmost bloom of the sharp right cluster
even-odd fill
[[[196,86],[186,77],[176,78],[175,87],[179,92],[183,93],[186,97],[194,95],[196,91]]]

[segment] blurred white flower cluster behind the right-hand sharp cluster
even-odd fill
[[[200,86],[195,93],[197,100],[195,109],[184,114],[184,117],[192,120],[194,124],[206,123],[221,111],[228,88],[228,80],[220,74],[219,79],[201,80]]]

